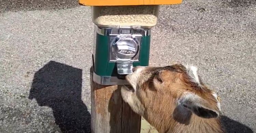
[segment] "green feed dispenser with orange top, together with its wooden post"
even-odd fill
[[[147,66],[151,29],[160,5],[182,0],[79,0],[90,6],[94,28],[91,69],[91,132],[139,133],[141,116],[120,96],[125,76],[138,65]]]

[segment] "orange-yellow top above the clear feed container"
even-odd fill
[[[180,4],[182,0],[79,0],[86,6],[117,6],[117,5],[171,5]]]

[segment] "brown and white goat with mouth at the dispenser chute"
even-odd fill
[[[223,133],[217,94],[197,75],[197,68],[134,67],[126,76],[132,88],[121,94],[132,110],[159,133]]]

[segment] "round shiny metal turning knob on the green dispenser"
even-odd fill
[[[131,59],[138,52],[138,43],[133,38],[117,37],[112,44],[112,52],[118,59]]]

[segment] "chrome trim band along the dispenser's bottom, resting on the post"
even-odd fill
[[[126,85],[129,84],[126,80],[118,79],[114,76],[99,76],[93,73],[93,81],[101,85]]]

